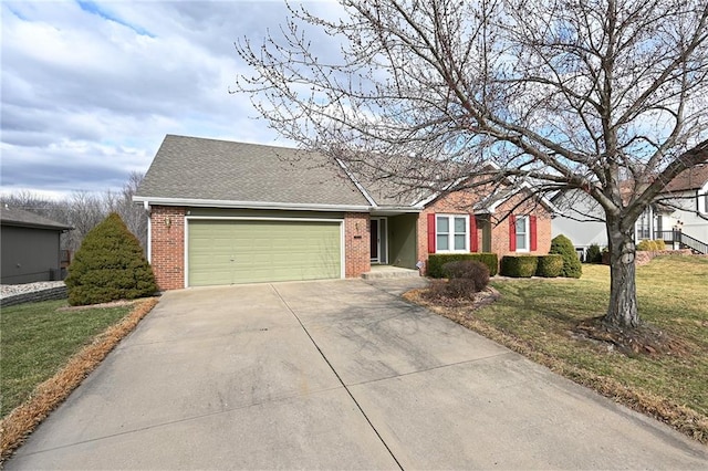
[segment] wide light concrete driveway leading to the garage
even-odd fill
[[[402,301],[169,292],[7,469],[706,469],[706,447]]]

